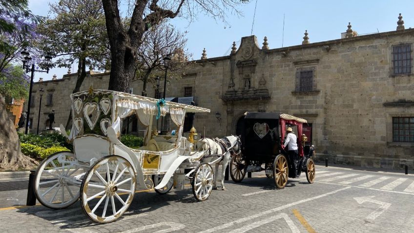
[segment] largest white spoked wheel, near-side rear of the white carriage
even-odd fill
[[[135,187],[135,171],[131,164],[120,156],[105,156],[93,165],[83,179],[83,212],[94,222],[113,222],[128,209]]]

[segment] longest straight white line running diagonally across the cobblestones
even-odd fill
[[[279,207],[276,207],[276,208],[273,208],[273,209],[270,209],[270,210],[267,210],[267,211],[264,211],[264,212],[256,213],[256,214],[253,214],[253,215],[244,217],[244,218],[240,218],[240,219],[237,219],[237,220],[228,222],[226,224],[223,224],[223,225],[220,225],[220,226],[217,226],[217,227],[213,227],[213,228],[207,229],[207,230],[202,231],[200,233],[210,233],[210,232],[215,232],[215,231],[218,231],[218,230],[222,230],[222,229],[231,227],[234,224],[243,223],[243,222],[246,222],[248,220],[251,220],[251,219],[254,219],[254,218],[257,218],[257,217],[261,217],[261,216],[264,216],[264,215],[266,216],[266,215],[269,215],[270,213],[277,212],[277,211],[281,211],[281,210],[284,210],[286,208],[289,208],[289,207],[292,207],[292,206],[295,206],[295,205],[302,204],[304,202],[312,201],[312,200],[315,200],[315,199],[318,199],[318,198],[321,198],[321,197],[325,197],[325,196],[334,194],[334,193],[339,192],[339,191],[347,190],[349,188],[350,187],[346,187],[346,188],[342,188],[342,189],[339,189],[339,190],[327,192],[327,193],[324,193],[324,194],[321,194],[321,195],[318,195],[318,196],[314,196],[314,197],[310,197],[310,198],[307,198],[307,199],[302,199],[300,201],[292,202],[290,204],[286,204],[286,205],[283,205],[283,206],[279,206]]]

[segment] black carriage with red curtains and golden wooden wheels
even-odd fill
[[[304,171],[308,182],[313,183],[314,149],[307,143],[305,134],[302,134],[303,124],[306,123],[306,120],[288,114],[247,112],[241,125],[242,153],[234,155],[230,162],[231,179],[241,182],[246,172],[265,170],[266,176],[274,179],[276,187],[283,189],[288,177],[298,178]],[[288,148],[283,148],[285,127],[295,128],[293,131],[297,134],[298,156],[292,161],[288,156]]]

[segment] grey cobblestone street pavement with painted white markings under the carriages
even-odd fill
[[[197,202],[188,188],[159,195],[137,192],[118,221],[98,225],[79,202],[63,210],[0,207],[0,232],[413,232],[414,176],[317,166],[316,181],[290,179],[274,188],[263,172]],[[220,188],[219,188],[220,189]],[[25,191],[0,192],[0,199]],[[23,200],[22,200],[23,199]],[[24,203],[21,203],[24,204]]]

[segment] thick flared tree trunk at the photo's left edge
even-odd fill
[[[0,94],[0,170],[32,169],[35,165],[39,163],[21,153],[19,135]]]

